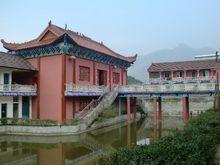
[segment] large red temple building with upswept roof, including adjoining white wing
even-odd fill
[[[51,22],[31,41],[1,42],[8,50],[0,56],[1,117],[74,118],[93,99],[127,84],[137,58]]]

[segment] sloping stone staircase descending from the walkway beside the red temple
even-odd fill
[[[81,117],[83,123],[86,125],[86,127],[91,126],[93,121],[111,104],[115,101],[116,97],[119,93],[119,86],[116,86],[112,91],[105,93],[102,97],[98,99],[98,101],[95,101],[95,104],[93,104],[94,101],[92,101],[90,104],[93,104],[95,106],[89,107],[87,112]],[[89,104],[89,105],[90,105]]]

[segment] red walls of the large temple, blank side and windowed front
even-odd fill
[[[61,55],[47,56],[29,59],[29,62],[39,70],[39,113],[40,119],[53,119],[62,121],[62,57]],[[75,62],[74,62],[75,61]],[[97,70],[104,70],[107,72],[107,85],[113,88],[113,72],[120,74],[119,84],[127,83],[127,70],[115,68],[113,66],[98,63],[86,59],[72,58],[66,56],[66,74],[65,82],[73,83],[75,77],[76,84],[97,84]],[[75,65],[74,65],[75,64]],[[79,80],[79,66],[90,68],[90,81]],[[76,71],[75,73],[73,71]],[[91,99],[91,98],[88,98]],[[66,97],[65,98],[65,117],[71,119],[74,112],[79,111],[79,98]],[[37,118],[38,100],[33,99],[33,118]]]

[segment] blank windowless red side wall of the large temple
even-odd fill
[[[29,60],[35,67],[40,65],[40,119],[53,119],[61,121],[62,111],[62,56],[41,57],[37,64],[37,58]],[[35,111],[35,108],[33,107]]]

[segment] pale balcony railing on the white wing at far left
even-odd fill
[[[0,92],[37,92],[37,86],[20,84],[0,84]]]

